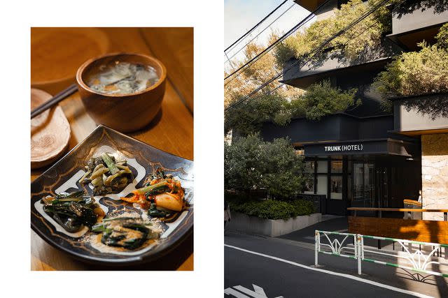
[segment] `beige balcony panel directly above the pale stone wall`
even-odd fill
[[[448,133],[448,94],[429,94],[392,98],[393,128],[402,135]]]

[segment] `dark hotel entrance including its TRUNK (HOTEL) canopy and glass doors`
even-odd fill
[[[326,214],[345,216],[348,207],[402,208],[421,189],[421,161],[409,150],[415,147],[391,139],[307,144],[301,149],[311,178],[304,194],[325,195]]]

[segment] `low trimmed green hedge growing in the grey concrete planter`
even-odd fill
[[[267,219],[288,219],[295,216],[309,215],[315,212],[312,202],[293,200],[283,202],[277,200],[262,200],[244,202],[242,204],[230,203],[230,209],[248,216],[257,216]]]

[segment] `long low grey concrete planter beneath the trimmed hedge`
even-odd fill
[[[276,237],[314,225],[321,221],[321,217],[322,214],[314,213],[288,219],[265,219],[232,212],[232,220],[225,225],[225,230]]]

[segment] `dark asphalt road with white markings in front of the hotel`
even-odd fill
[[[246,251],[245,251],[246,250]],[[312,244],[291,239],[225,232],[224,297],[448,297],[447,279],[426,282],[393,267],[319,255]]]

